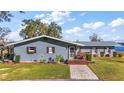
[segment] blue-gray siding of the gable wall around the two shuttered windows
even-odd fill
[[[48,59],[51,57],[52,59],[55,59],[56,55],[62,55],[64,59],[68,59],[68,44],[63,44],[62,42],[55,42],[53,40],[38,40],[33,42],[28,42],[25,44],[19,44],[16,45],[14,48],[14,53],[16,55],[21,56],[20,62],[30,62],[37,60],[39,61],[41,56],[45,60],[48,61]],[[34,54],[27,54],[27,47],[36,47],[36,53]],[[47,47],[55,47],[55,53],[48,54],[46,52]]]

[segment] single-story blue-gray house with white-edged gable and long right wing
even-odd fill
[[[25,39],[7,44],[8,53],[20,55],[20,62],[39,61],[42,58],[55,59],[56,55],[62,55],[66,59],[74,59],[79,49],[92,55],[110,57],[115,52],[115,42],[72,42],[46,35]]]

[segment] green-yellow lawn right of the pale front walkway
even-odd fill
[[[100,80],[124,80],[124,58],[93,58],[88,66]]]

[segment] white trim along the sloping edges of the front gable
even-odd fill
[[[30,39],[21,40],[21,41],[15,42],[15,43],[7,44],[5,47],[15,45],[15,44],[19,44],[19,43],[23,43],[23,42],[27,42],[27,41],[30,41],[30,40],[43,38],[43,37],[47,37],[47,38],[50,38],[50,39],[54,39],[54,40],[58,40],[58,41],[66,42],[66,43],[71,43],[71,44],[74,44],[74,45],[84,46],[84,44],[74,43],[72,41],[67,41],[67,40],[63,40],[63,39],[59,39],[59,38],[55,38],[55,37],[51,37],[51,36],[42,35],[42,36],[30,38]]]

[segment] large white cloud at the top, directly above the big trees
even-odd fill
[[[63,25],[67,21],[75,21],[75,18],[71,17],[71,12],[68,11],[53,11],[47,14],[37,14],[35,15],[35,18],[40,18],[41,22],[44,23],[50,23],[50,22],[56,22],[59,25]]]

